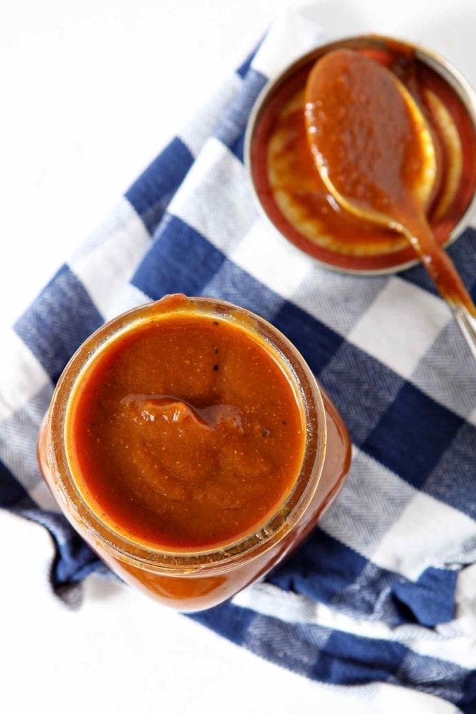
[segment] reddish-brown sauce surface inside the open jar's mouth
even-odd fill
[[[199,550],[252,533],[279,508],[305,428],[258,336],[183,311],[106,346],[74,394],[66,438],[103,520],[158,548]]]

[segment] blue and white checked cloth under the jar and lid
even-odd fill
[[[41,482],[35,443],[66,362],[108,318],[164,293],[260,313],[305,356],[348,424],[348,482],[265,583],[201,623],[254,653],[339,685],[368,710],[476,712],[476,380],[422,268],[328,273],[259,220],[243,169],[253,101],[321,41],[287,16],[146,169],[103,226],[3,338],[0,506],[49,529],[51,583],[70,603],[103,572]],[[476,232],[450,253],[476,288]],[[317,686],[317,685],[316,685]]]

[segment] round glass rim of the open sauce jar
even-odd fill
[[[183,575],[203,570],[212,572],[231,569],[243,560],[251,560],[269,550],[292,530],[312,500],[323,469],[327,429],[323,398],[303,356],[277,328],[264,318],[245,308],[216,298],[185,298],[167,307],[168,296],[161,301],[146,303],[113,318],[93,333],[79,347],[67,364],[56,386],[46,423],[47,458],[54,483],[66,513],[76,529],[92,545],[106,550],[108,555],[136,567],[168,575]],[[300,472],[283,503],[280,503],[265,523],[253,533],[233,543],[203,550],[163,550],[153,545],[127,538],[93,510],[81,493],[68,457],[66,420],[76,387],[83,373],[98,353],[121,333],[152,316],[190,312],[216,316],[233,321],[265,343],[285,370],[303,406],[305,448]]]

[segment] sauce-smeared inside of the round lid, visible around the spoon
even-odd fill
[[[430,124],[437,181],[427,218],[444,243],[476,187],[470,116],[450,85],[404,45],[358,52],[393,71]],[[314,64],[296,69],[276,87],[255,124],[251,170],[263,208],[290,241],[330,265],[372,271],[411,261],[415,254],[406,238],[343,211],[315,169],[305,128],[305,84]]]

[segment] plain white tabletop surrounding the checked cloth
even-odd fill
[[[275,14],[298,5],[9,4],[0,21],[0,328]],[[474,0],[335,0],[311,12],[331,36],[378,31],[423,41],[476,84]],[[90,580],[83,608],[69,612],[46,587],[51,545],[38,526],[0,513],[0,543],[6,714],[340,711],[332,688],[265,663],[125,586]],[[357,700],[348,711],[368,714]]]

